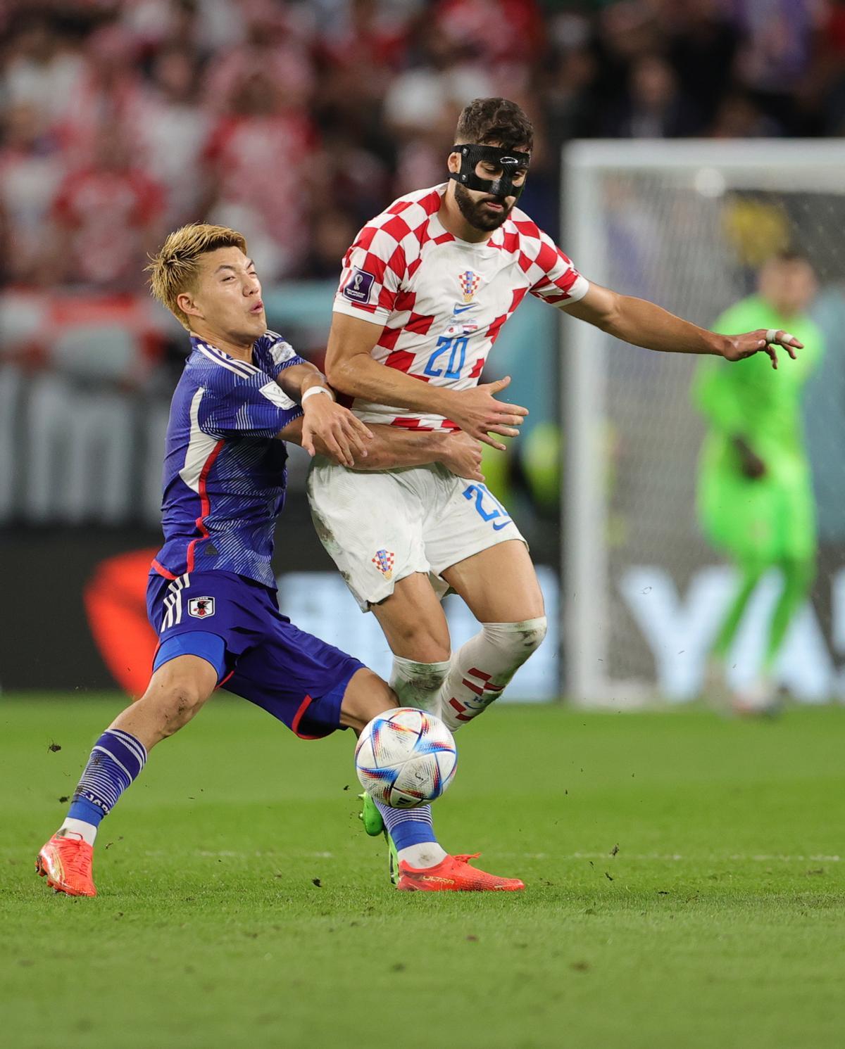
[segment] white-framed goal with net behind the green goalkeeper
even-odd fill
[[[810,314],[827,352],[804,395],[819,518],[812,601],[778,676],[800,700],[845,697],[845,145],[829,142],[583,142],[565,152],[562,244],[589,279],[711,327],[755,290],[772,254],[805,254]],[[563,323],[562,637],[567,694],[633,705],[700,694],[732,571],[696,520],[704,432],[696,359]],[[781,365],[788,366],[788,361]],[[779,580],[763,580],[728,660],[756,672]]]

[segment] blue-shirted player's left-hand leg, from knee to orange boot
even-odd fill
[[[218,639],[217,639],[218,640]],[[223,659],[223,642],[219,642]],[[67,817],[36,859],[47,884],[68,896],[96,896],[91,877],[100,821],[140,775],[150,749],[178,731],[213,692],[218,670],[197,656],[159,667],[138,702],[100,736],[73,792]]]

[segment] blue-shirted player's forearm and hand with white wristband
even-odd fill
[[[335,394],[325,376],[313,364],[292,364],[279,372],[276,382],[282,390],[302,405],[300,444],[309,455],[325,449],[328,454],[352,466],[365,458],[372,431],[347,408],[335,402]]]

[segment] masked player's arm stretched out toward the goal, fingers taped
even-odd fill
[[[741,361],[764,352],[772,359],[773,368],[777,368],[775,346],[782,346],[793,360],[795,350],[803,348],[788,331],[760,328],[743,335],[717,335],[675,317],[653,302],[619,295],[600,284],[591,283],[584,298],[566,312],[625,342],[669,354],[711,354],[727,361]]]

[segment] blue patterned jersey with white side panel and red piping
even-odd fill
[[[275,436],[302,414],[276,378],[304,362],[273,331],[255,342],[252,360],[191,336],[170,405],[165,542],[153,560],[169,579],[217,570],[275,587],[273,530],[284,506],[288,458]]]

